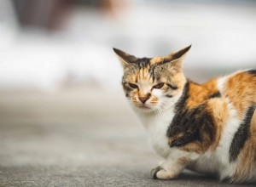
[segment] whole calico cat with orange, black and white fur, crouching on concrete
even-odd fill
[[[256,71],[237,71],[203,84],[183,74],[189,48],[137,58],[113,48],[124,67],[126,98],[163,157],[153,178],[184,168],[230,182],[256,180]]]

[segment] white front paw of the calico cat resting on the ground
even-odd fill
[[[188,161],[184,157],[177,159],[169,158],[151,170],[151,177],[154,179],[177,178],[179,173],[183,171],[183,168],[187,166],[187,163]]]

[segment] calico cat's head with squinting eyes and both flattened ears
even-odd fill
[[[125,96],[135,108],[161,112],[177,102],[186,82],[182,61],[190,47],[155,58],[137,58],[113,48],[124,67]]]

